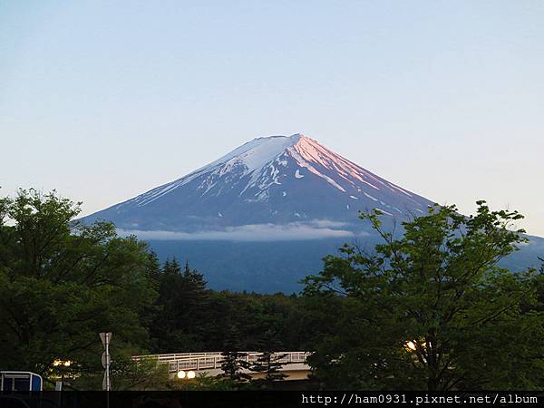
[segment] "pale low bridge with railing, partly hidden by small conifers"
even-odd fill
[[[239,352],[242,360],[247,361],[249,364],[257,363],[257,359],[260,352]],[[286,381],[289,380],[304,380],[310,373],[310,366],[306,364],[306,357],[310,355],[307,352],[277,352],[274,356],[274,362],[282,364],[279,371],[282,374],[286,374]],[[170,376],[176,375],[180,371],[194,371],[196,374],[206,373],[209,376],[215,376],[222,374],[221,364],[225,360],[225,357],[221,355],[221,352],[211,353],[178,353],[172,355],[134,355],[132,360],[141,361],[156,360],[157,364],[168,364],[168,371]],[[250,374],[254,378],[264,376],[263,373],[256,373],[249,371],[248,369],[242,369],[242,373]]]

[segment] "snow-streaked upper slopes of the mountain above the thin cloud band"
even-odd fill
[[[296,134],[249,141],[199,170],[87,220],[109,219],[123,230],[147,231],[148,237],[151,231],[162,231],[181,233],[172,236],[176,238],[195,233],[196,238],[206,238],[214,231],[219,235],[210,237],[238,239],[245,234],[250,239],[248,226],[274,225],[305,227],[307,238],[317,229],[320,238],[324,230],[334,236],[334,231],[358,228],[360,209],[381,209],[389,217],[406,219],[422,214],[430,204]],[[245,228],[244,234],[230,234],[233,228]]]

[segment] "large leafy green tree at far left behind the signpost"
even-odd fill
[[[2,368],[48,374],[61,358],[82,375],[102,370],[103,331],[114,333],[113,358],[147,345],[146,245],[74,220],[79,204],[34,189],[0,199]]]

